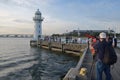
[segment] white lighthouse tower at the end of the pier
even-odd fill
[[[35,41],[38,41],[42,37],[42,25],[41,24],[42,24],[43,18],[41,15],[42,15],[41,12],[39,11],[39,9],[37,9],[37,11],[35,12],[35,17],[33,17],[33,21],[35,22],[33,40]]]

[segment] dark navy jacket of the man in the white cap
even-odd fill
[[[108,43],[103,40],[102,42],[99,41],[95,46],[94,49],[96,50],[97,53],[97,58],[102,60],[104,58],[104,53],[105,53],[105,47]]]

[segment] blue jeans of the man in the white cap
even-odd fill
[[[106,75],[106,80],[111,80],[110,66],[106,65],[102,61],[98,60],[96,62],[97,80],[102,80],[102,73],[103,72]]]

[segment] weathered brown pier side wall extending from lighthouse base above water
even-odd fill
[[[40,48],[49,49],[52,51],[60,51],[63,53],[71,53],[76,56],[80,56],[84,49],[87,47],[87,44],[75,44],[75,43],[60,43],[60,42],[50,42],[50,41],[38,41],[38,42],[31,42],[32,44],[37,44]]]

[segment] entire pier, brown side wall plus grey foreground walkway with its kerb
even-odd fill
[[[76,67],[71,68],[62,80],[96,80],[95,62],[93,61],[87,44],[60,43],[50,41],[38,41],[36,43],[40,48],[70,53],[80,57]],[[113,80],[120,80],[120,48],[115,48],[115,51],[117,53],[118,60],[114,67],[111,67],[111,74]],[[86,69],[84,76],[80,74],[82,68]],[[103,74],[103,80],[105,80],[105,74]]]

